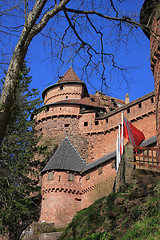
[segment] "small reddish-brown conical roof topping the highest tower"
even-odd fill
[[[67,72],[58,80],[58,83],[61,82],[81,82],[75,71],[70,67]]]

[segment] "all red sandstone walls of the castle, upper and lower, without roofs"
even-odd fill
[[[85,105],[83,87],[80,83],[57,83],[44,91],[47,105],[37,114],[36,127],[43,133],[41,142],[49,151],[60,145],[66,134],[86,163],[115,151],[122,111],[146,139],[156,135],[154,93],[110,112],[106,108],[104,112],[105,106]],[[73,101],[65,101],[66,97]],[[82,100],[81,104],[76,102],[78,98]],[[54,222],[56,227],[63,227],[77,211],[112,191],[116,176],[115,159],[85,173],[72,173],[74,181],[68,180],[68,171],[56,170],[50,180],[48,174],[46,172],[42,178],[40,221]]]

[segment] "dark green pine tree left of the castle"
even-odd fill
[[[40,106],[37,89],[30,89],[32,78],[23,65],[17,79],[17,92],[9,124],[0,146],[0,233],[19,239],[22,230],[38,216],[34,197],[40,193],[34,161],[38,137],[31,115]],[[32,197],[31,197],[32,196]]]

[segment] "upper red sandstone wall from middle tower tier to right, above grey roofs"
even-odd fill
[[[78,106],[69,105],[62,106],[61,110],[60,107],[53,109],[37,116],[37,128],[42,130],[44,142],[48,145],[59,145],[67,131],[71,142],[87,162],[92,162],[116,149],[118,124],[121,123],[121,112],[118,110],[109,113],[105,119],[96,119],[95,113],[79,114]],[[133,106],[127,104],[124,115],[144,133],[146,139],[156,135],[153,96],[138,101]]]

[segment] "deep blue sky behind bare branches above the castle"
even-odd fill
[[[86,0],[86,2],[87,1],[89,2],[89,0]],[[108,3],[105,1],[102,1],[102,2]],[[116,0],[114,0],[114,2],[116,2]],[[124,15],[126,15],[126,12],[128,12],[127,16],[132,17],[132,12],[133,13],[136,12],[137,15],[135,15],[134,17],[136,18],[136,20],[138,20],[139,12],[143,2],[144,0],[123,0],[121,16],[123,16],[123,12],[124,12]],[[69,4],[71,7],[74,8],[74,5],[78,3],[79,2],[70,1]],[[100,5],[100,0],[96,0],[95,3],[100,8],[99,10],[105,13],[105,9],[102,8]],[[60,20],[63,21],[63,19],[64,18],[62,16],[62,19]],[[2,19],[3,22],[4,20],[7,20],[6,26],[8,26],[9,24],[12,24],[12,25],[15,24],[15,22],[13,21],[11,22],[9,21],[9,19],[5,19],[5,18]],[[17,23],[20,22],[23,25],[24,16],[20,16],[20,18],[16,18],[16,21]],[[97,24],[98,28],[101,27],[100,25],[101,23],[103,23],[103,28],[106,28],[107,22],[105,20],[102,22],[98,22],[99,20],[97,22],[96,21],[97,21],[97,18],[94,19],[94,22],[95,24]],[[50,27],[50,29],[55,28],[54,29],[55,31],[58,31],[59,34],[62,34],[66,26],[68,26],[66,24],[66,21],[63,21],[62,23],[61,22],[58,23],[58,22],[55,22],[54,19],[53,20],[51,19],[51,21],[47,25],[47,28],[44,29],[43,33],[48,33],[47,31]],[[19,32],[16,32],[17,36],[14,39],[12,36],[9,37],[9,35],[4,35],[3,39],[6,42],[6,52],[13,51],[15,44],[18,40],[18,36],[21,33],[21,30],[22,29],[19,28]],[[123,46],[124,44],[121,44],[120,46],[116,45],[117,42],[114,39],[116,35],[115,29],[110,28],[109,30],[111,31],[112,35],[110,34],[107,28],[105,31],[106,31],[105,34],[106,35],[108,34],[108,38],[107,38],[108,42],[105,43],[106,44],[105,47],[107,51],[115,53],[116,62],[119,65],[123,65],[127,68],[130,67],[130,69],[127,70],[127,74],[125,75],[128,82],[128,85],[127,85],[124,81],[124,77],[117,72],[115,72],[115,74],[110,79],[109,66],[107,65],[107,62],[106,62],[106,68],[108,71],[106,72],[105,77],[107,80],[107,84],[109,85],[109,89],[105,93],[107,95],[120,98],[120,99],[125,99],[125,94],[129,93],[130,101],[132,101],[136,98],[139,98],[153,91],[154,79],[153,79],[152,72],[150,70],[150,46],[149,46],[150,42],[147,39],[147,37],[144,35],[142,30],[141,29],[136,30],[133,33],[133,37],[130,36],[127,39],[127,47],[124,47]],[[124,31],[123,34],[126,34],[126,31]],[[83,37],[85,40],[88,39],[87,34]],[[76,41],[76,38],[72,35],[72,39],[71,39],[71,35],[69,35],[69,37],[66,40],[67,40],[67,44],[70,42],[70,40],[72,40],[72,43],[74,43],[74,41]],[[92,42],[94,42],[95,46],[99,46],[97,45],[98,43],[96,42],[96,40],[92,39],[91,43]],[[32,76],[32,79],[33,79],[31,87],[38,88],[40,93],[42,93],[42,91],[46,87],[56,83],[58,81],[58,76],[62,76],[72,64],[73,69],[77,73],[78,77],[86,82],[89,93],[94,94],[96,90],[101,91],[100,74],[96,75],[94,73],[92,77],[90,77],[87,80],[87,76],[85,75],[82,76],[83,62],[78,57],[74,59],[73,63],[71,63],[71,61],[67,62],[67,57],[68,56],[71,57],[73,55],[72,50],[65,51],[65,56],[66,56],[64,57],[65,64],[58,71],[57,70],[58,61],[57,59],[55,58],[53,59],[51,57],[52,51],[54,53],[57,53],[58,51],[56,38],[54,42],[52,42],[52,46],[53,47],[51,49],[51,45],[49,41],[46,41],[46,42],[42,41],[41,34],[36,36],[35,39],[32,41],[26,57],[27,66],[31,68],[30,75]],[[1,48],[4,51],[3,46],[1,46]],[[100,73],[101,73],[101,69],[100,69]],[[0,77],[3,77],[3,74],[0,73]]]

